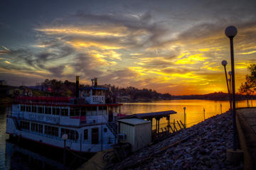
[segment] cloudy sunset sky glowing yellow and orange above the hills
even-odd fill
[[[1,1],[0,79],[227,92],[224,30],[236,26],[236,88],[256,63],[256,1]]]

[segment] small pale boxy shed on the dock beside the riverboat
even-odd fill
[[[151,121],[139,118],[120,119],[118,122],[119,134],[125,134],[123,142],[132,145],[132,152],[142,149],[151,142]]]

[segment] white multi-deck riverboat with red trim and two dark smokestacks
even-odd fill
[[[114,120],[122,115],[122,104],[106,103],[106,91],[96,78],[92,86],[79,89],[76,77],[75,98],[18,96],[6,115],[6,133],[74,152],[110,149],[118,141]]]

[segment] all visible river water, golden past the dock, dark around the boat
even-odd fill
[[[256,106],[256,101],[250,101],[250,106]],[[238,101],[238,108],[247,107],[247,101]],[[186,126],[191,127],[204,118],[225,113],[230,108],[228,101],[206,101],[206,100],[171,100],[152,101],[149,103],[124,103],[122,113],[150,113],[159,111],[176,111],[171,115],[171,122],[181,120],[184,122],[184,107],[186,107]],[[31,147],[22,147],[9,142],[6,135],[6,106],[0,106],[0,169],[63,169],[63,155],[53,156],[42,154],[42,152]],[[205,110],[205,112],[203,111]],[[153,120],[153,129],[155,121]],[[166,126],[166,119],[161,119],[160,127]]]

